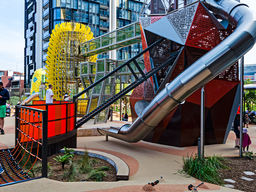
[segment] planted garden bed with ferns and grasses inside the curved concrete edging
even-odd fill
[[[59,153],[48,157],[48,179],[57,181],[116,181],[116,169],[107,161],[97,158],[89,157],[88,153],[85,155],[74,155],[62,169],[62,164],[55,159],[57,156],[63,156],[64,153]],[[26,161],[26,158],[24,158]],[[24,163],[24,162],[23,162]],[[24,167],[24,171],[30,169],[30,165]],[[20,164],[20,166],[23,166]],[[42,175],[41,172],[42,163],[36,161],[36,164],[28,172],[30,177],[39,177]]]

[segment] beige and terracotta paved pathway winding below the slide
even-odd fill
[[[11,148],[14,145],[14,123],[12,117],[6,120],[6,133],[0,135],[0,141],[3,145]],[[7,119],[7,118],[6,118]],[[14,119],[13,119],[14,122]],[[248,134],[251,137],[252,144],[249,150],[256,152],[256,126],[249,125]],[[2,137],[3,136],[3,137]],[[205,153],[222,154],[222,156],[238,156],[239,150],[235,149],[235,134],[230,132],[226,144],[217,144],[205,146]],[[0,146],[1,147],[1,146]],[[177,148],[152,144],[144,141],[138,143],[127,143],[115,138],[105,136],[78,137],[77,148],[98,150],[110,153],[123,159],[130,168],[130,178],[128,181],[117,182],[59,182],[49,179],[31,180],[15,185],[0,188],[1,191],[93,191],[98,192],[135,192],[143,191],[142,187],[148,182],[160,180],[159,184],[154,186],[156,191],[161,192],[184,192],[188,191],[188,185],[198,185],[199,180],[183,177],[177,173],[181,170],[181,156],[190,155],[197,152],[197,147]],[[203,188],[198,191],[207,190],[209,192],[235,192],[238,190],[220,187],[217,185],[205,183]],[[25,190],[26,189],[26,190]]]

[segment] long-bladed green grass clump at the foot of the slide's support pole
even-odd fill
[[[197,154],[193,156],[183,156],[183,170],[179,173],[186,173],[188,177],[195,177],[204,182],[213,183],[217,185],[224,185],[220,178],[218,170],[229,169],[223,163],[226,160],[220,155],[207,156],[206,158],[198,158]]]

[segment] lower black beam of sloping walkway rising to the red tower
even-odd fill
[[[110,106],[112,103],[114,103],[116,100],[120,99],[122,96],[124,96],[126,93],[132,91],[135,87],[137,87],[138,85],[140,85],[141,83],[143,83],[144,81],[146,81],[148,78],[150,78],[152,75],[156,74],[159,70],[163,69],[164,67],[166,67],[167,65],[171,64],[172,62],[174,62],[178,56],[178,54],[180,53],[180,51],[178,52],[173,52],[171,55],[171,59],[167,60],[166,62],[164,62],[163,64],[159,64],[157,65],[155,68],[151,69],[149,72],[147,72],[146,74],[142,75],[140,78],[138,78],[135,82],[133,82],[132,84],[130,84],[129,86],[127,86],[126,88],[124,88],[121,92],[117,93],[116,95],[114,95],[112,98],[110,98],[109,100],[105,101],[103,104],[101,104],[99,107],[95,108],[93,111],[91,111],[90,113],[88,113],[86,116],[84,116],[83,118],[81,118],[80,120],[78,120],[76,122],[76,128],[80,127],[81,125],[83,125],[84,123],[86,123],[88,120],[90,120],[93,116],[97,115],[98,113],[100,113],[102,110],[104,110],[105,108],[107,108],[108,106]],[[99,82],[99,81],[98,81]],[[92,84],[94,85],[94,84]],[[89,88],[89,87],[88,87]]]

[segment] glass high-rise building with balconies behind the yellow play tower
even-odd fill
[[[45,68],[48,43],[56,24],[80,22],[88,25],[96,37],[139,20],[142,4],[142,0],[25,0],[25,87],[30,87],[36,69]],[[141,45],[135,44],[98,58],[127,59],[140,50]]]

